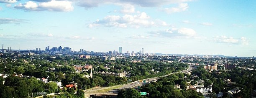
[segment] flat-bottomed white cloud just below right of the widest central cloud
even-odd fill
[[[158,31],[150,31],[148,32],[151,36],[154,37],[195,37],[197,34],[195,30],[191,28],[172,28],[168,30],[158,30]]]

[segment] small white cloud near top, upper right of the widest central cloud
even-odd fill
[[[180,3],[178,7],[164,8],[161,10],[166,13],[178,13],[178,12],[186,11],[187,8],[189,8],[187,3]]]

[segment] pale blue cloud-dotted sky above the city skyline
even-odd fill
[[[256,0],[0,0],[12,49],[256,56]]]

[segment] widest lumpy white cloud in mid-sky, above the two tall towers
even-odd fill
[[[161,20],[151,20],[150,17],[145,13],[139,13],[138,15],[108,15],[102,20],[96,20],[95,22],[88,25],[88,27],[93,26],[107,26],[107,27],[134,27],[139,28],[141,26],[143,27],[149,27],[149,26],[166,26],[166,22]]]

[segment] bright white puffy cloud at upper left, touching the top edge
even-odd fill
[[[64,0],[64,1],[56,1],[51,0],[49,2],[43,3],[35,3],[33,1],[28,1],[27,3],[19,3],[18,5],[14,5],[14,8],[24,9],[24,10],[32,10],[32,11],[72,11],[74,8],[72,6],[72,2]]]

